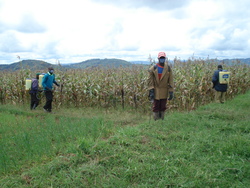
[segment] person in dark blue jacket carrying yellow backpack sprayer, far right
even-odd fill
[[[221,74],[221,75],[220,75]],[[218,70],[214,71],[212,77],[213,88],[215,89],[215,102],[224,103],[225,95],[228,87],[229,72],[222,69],[222,65],[218,65]]]

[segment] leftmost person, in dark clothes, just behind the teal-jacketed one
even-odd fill
[[[33,78],[31,81],[31,89],[30,89],[30,109],[35,110],[36,107],[39,104],[39,99],[37,98],[37,93],[39,92],[39,85],[38,85],[38,80],[39,80],[39,73],[36,74],[36,78]]]

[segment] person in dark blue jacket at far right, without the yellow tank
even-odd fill
[[[219,82],[219,72],[225,71],[222,68],[222,65],[218,65],[218,70],[214,71],[212,82],[213,88],[215,89],[215,102],[224,103],[225,102],[225,95],[227,91],[227,84],[220,84]]]

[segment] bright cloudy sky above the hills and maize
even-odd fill
[[[0,0],[0,64],[249,58],[249,0]]]

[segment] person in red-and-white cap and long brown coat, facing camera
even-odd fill
[[[154,120],[164,119],[167,99],[173,99],[173,73],[166,62],[165,52],[159,52],[158,63],[149,68],[149,99],[153,103]]]

